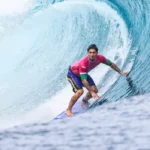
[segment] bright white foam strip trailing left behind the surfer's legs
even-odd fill
[[[67,108],[72,95],[71,86],[68,84],[59,94],[52,97],[50,101],[16,119],[10,119],[12,122],[11,124],[9,123],[10,120],[1,120],[0,129],[34,122],[50,121],[57,116],[58,113],[61,113]]]

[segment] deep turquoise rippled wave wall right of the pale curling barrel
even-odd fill
[[[120,2],[117,0],[106,2],[117,10],[127,25],[132,42],[126,64],[129,63],[129,59],[133,61],[129,85],[126,85],[125,80],[119,78],[111,90],[107,91],[109,96],[106,94],[106,97],[109,100],[119,100],[120,97],[125,98],[147,93],[150,89],[150,78],[148,77],[150,63],[148,11],[150,10],[150,4],[142,0],[138,2]]]

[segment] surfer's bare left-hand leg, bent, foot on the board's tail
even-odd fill
[[[72,96],[69,102],[68,108],[65,111],[65,113],[68,116],[73,116],[72,107],[76,103],[76,101],[80,98],[80,96],[83,94],[83,92],[84,92],[83,89],[77,90],[77,92]]]

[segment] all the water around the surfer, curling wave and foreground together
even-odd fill
[[[149,1],[0,3],[1,150],[150,149]],[[90,75],[107,102],[51,121],[73,94],[68,66],[91,43],[128,78],[100,65]]]

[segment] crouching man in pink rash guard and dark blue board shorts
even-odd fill
[[[82,102],[85,105],[88,105],[88,100],[90,98],[99,99],[97,95],[98,90],[93,81],[93,79],[88,75],[92,69],[94,69],[100,63],[106,64],[113,68],[121,75],[126,75],[128,72],[121,72],[121,70],[109,59],[106,59],[104,56],[98,54],[98,48],[95,44],[91,44],[88,49],[88,56],[80,59],[79,61],[75,62],[68,71],[67,77],[69,82],[72,85],[73,91],[75,94],[70,100],[68,108],[66,109],[65,113],[68,116],[73,116],[72,107],[76,103],[76,101],[80,98],[83,94],[83,87],[85,87],[88,92],[83,98]]]

